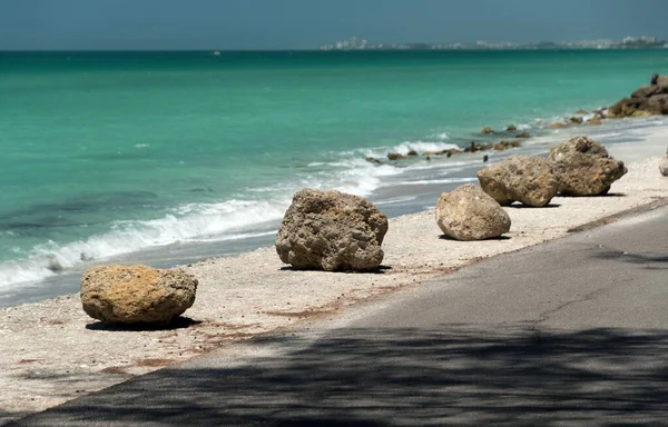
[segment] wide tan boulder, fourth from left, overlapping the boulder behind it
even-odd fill
[[[559,190],[551,163],[540,156],[511,156],[480,170],[478,179],[484,192],[503,206],[520,201],[542,207]]]

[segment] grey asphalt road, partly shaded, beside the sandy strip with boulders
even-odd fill
[[[668,207],[14,426],[668,425]]]

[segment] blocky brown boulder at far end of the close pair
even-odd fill
[[[612,159],[603,146],[587,137],[553,147],[548,159],[559,179],[559,192],[564,196],[605,195],[627,172],[623,161]]]

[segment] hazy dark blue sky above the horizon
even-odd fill
[[[0,49],[668,39],[668,0],[0,0]]]

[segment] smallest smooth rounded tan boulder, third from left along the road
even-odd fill
[[[444,192],[436,203],[436,224],[456,240],[483,240],[510,230],[508,212],[472,183]]]

